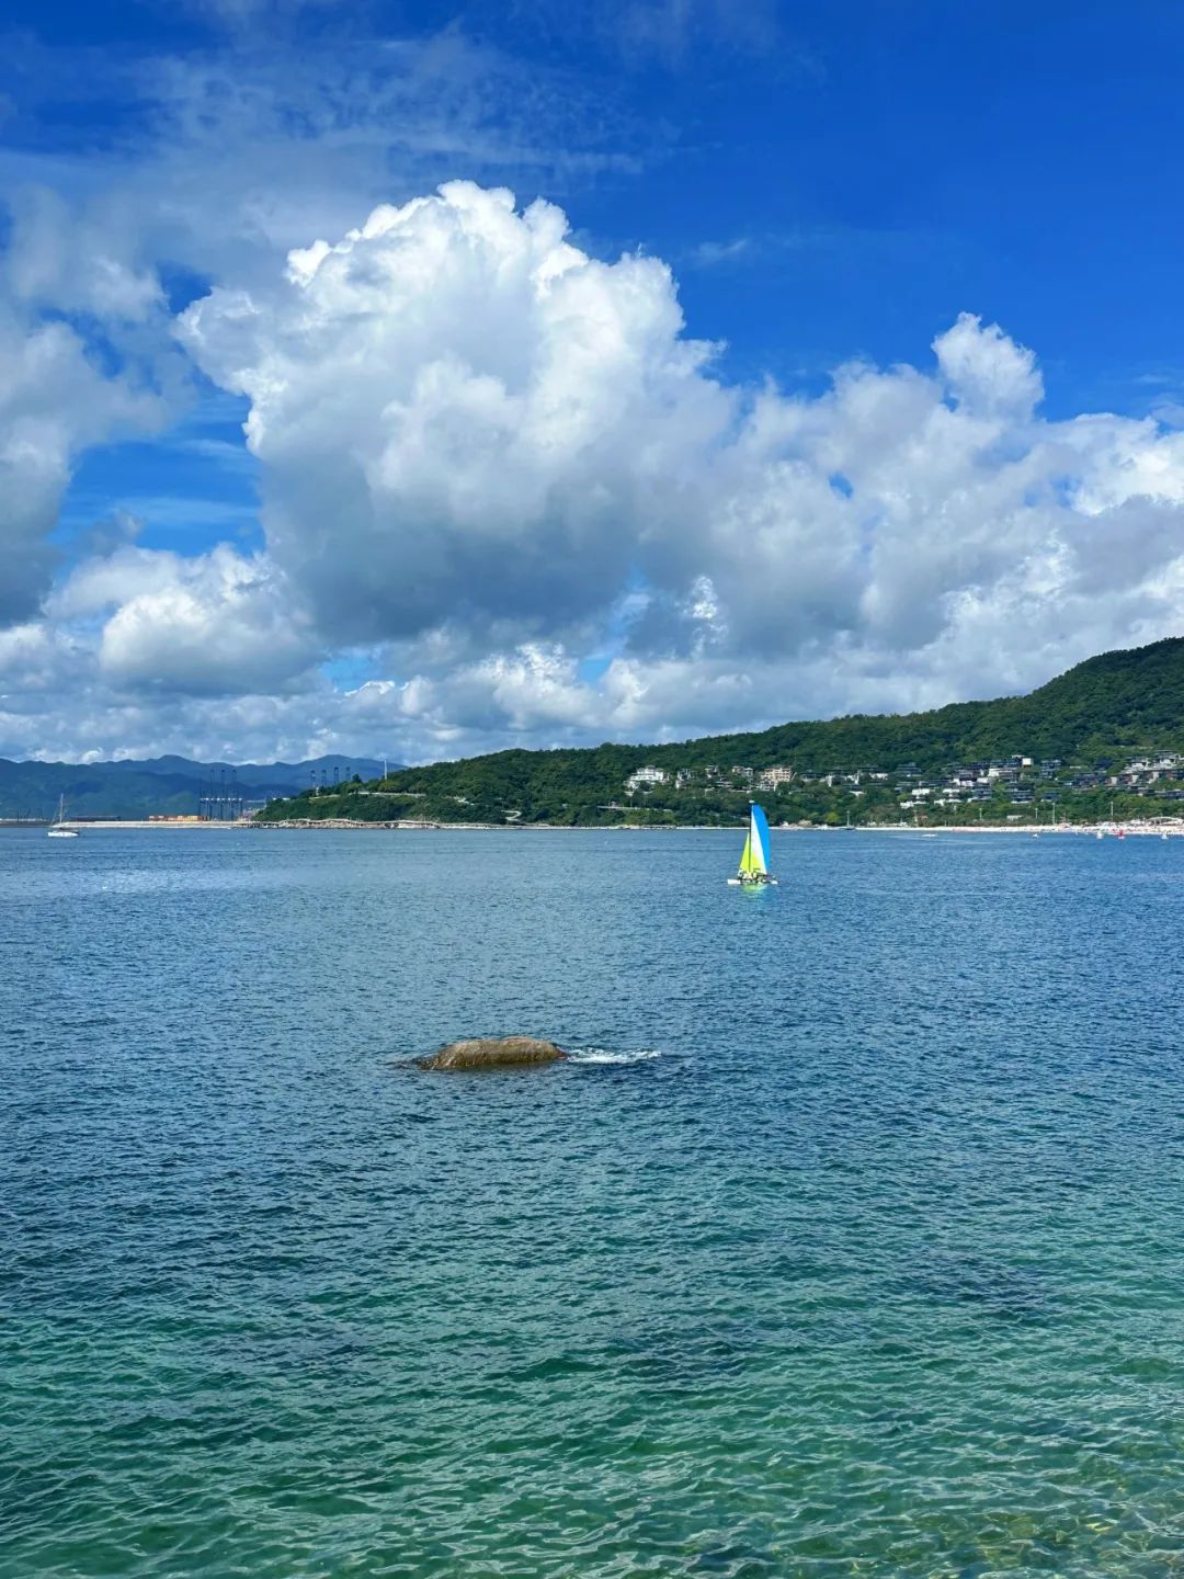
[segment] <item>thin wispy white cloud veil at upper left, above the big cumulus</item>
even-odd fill
[[[21,298],[142,316],[159,300],[161,264],[254,281],[311,235],[458,171],[553,182],[636,169],[657,136],[603,84],[519,62],[459,25],[376,36],[335,6],[311,47],[279,25],[300,8],[212,3],[249,25],[175,55],[21,39],[25,114],[57,120],[68,84],[66,104],[85,92],[122,128],[77,153],[60,139],[52,153],[0,148],[5,273]]]

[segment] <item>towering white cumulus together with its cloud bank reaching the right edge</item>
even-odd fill
[[[182,335],[251,401],[270,553],[320,628],[412,662],[477,630],[453,699],[483,687],[507,723],[504,665],[549,695],[538,654],[578,647],[630,578],[622,720],[646,663],[710,673],[710,696],[729,665],[837,663],[851,699],[906,704],[928,674],[1007,688],[1179,621],[1181,436],[1042,420],[1034,354],[971,314],[930,369],[728,388],[663,264],[597,261],[554,207],[453,183],[294,251],[265,291],[215,291]],[[889,671],[895,692],[862,685]]]

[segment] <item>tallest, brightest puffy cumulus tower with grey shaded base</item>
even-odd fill
[[[453,183],[185,314],[202,369],[251,401],[270,549],[336,639],[600,613],[731,422],[666,267],[597,262],[565,229]]]

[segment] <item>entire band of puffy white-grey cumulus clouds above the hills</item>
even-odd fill
[[[87,360],[43,328],[3,434],[25,549],[88,431],[79,401],[54,437]],[[999,695],[1184,628],[1184,434],[1048,420],[1034,352],[972,314],[821,396],[734,387],[665,264],[458,182],[216,286],[177,336],[249,403],[267,546],[115,534],[43,636],[21,627],[43,676],[90,655],[103,737],[153,715],[172,748],[234,726],[253,755],[677,737]],[[335,687],[316,665],[341,647],[373,677]],[[0,750],[28,728],[6,696]]]

